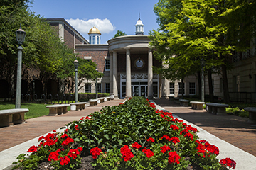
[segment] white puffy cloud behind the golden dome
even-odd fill
[[[101,20],[99,18],[95,19],[89,19],[88,21],[80,20],[80,19],[67,19],[68,23],[70,23],[71,26],[73,26],[76,30],[78,30],[81,34],[87,34],[89,33],[90,28],[93,26],[96,26],[100,33],[110,33],[112,32],[115,27],[112,25],[110,20],[107,18]]]

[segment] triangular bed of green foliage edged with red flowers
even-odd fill
[[[92,157],[95,169],[227,169],[230,159],[216,159],[219,149],[198,140],[198,130],[156,111],[146,98],[133,97],[68,123],[63,133],[40,137],[30,155],[18,156],[17,168],[79,169]],[[68,128],[67,128],[68,127]]]

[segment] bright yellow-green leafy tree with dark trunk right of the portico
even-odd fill
[[[206,70],[218,68],[223,82],[227,82],[227,70],[232,68],[230,55],[249,47],[240,43],[239,38],[246,41],[253,33],[252,18],[234,22],[234,16],[245,8],[248,3],[242,0],[160,0],[154,6],[160,28],[153,30],[150,38],[151,47],[157,51],[155,56],[168,64],[161,72],[165,71],[166,78],[169,75],[173,79],[178,78],[174,75],[179,72],[191,74],[201,68],[199,61],[203,57],[207,61]],[[245,23],[250,27],[239,30]],[[245,33],[249,36],[240,36]],[[223,84],[223,91],[228,103],[226,85]]]

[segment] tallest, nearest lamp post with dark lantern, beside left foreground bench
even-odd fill
[[[16,30],[16,40],[18,42],[18,66],[17,66],[17,84],[15,108],[21,108],[21,64],[22,64],[22,42],[25,40],[26,32],[21,27]]]

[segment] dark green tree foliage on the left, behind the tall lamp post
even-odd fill
[[[75,74],[73,61],[76,54],[62,42],[48,21],[28,10],[33,0],[0,0],[0,79],[13,82],[17,64],[17,42],[15,31],[21,27],[26,31],[23,42],[23,69],[36,69],[39,79],[47,83],[48,79],[73,79]],[[80,60],[78,78],[95,79],[96,64]],[[24,68],[25,67],[25,68]],[[65,70],[66,69],[66,70]],[[27,79],[32,75],[26,75]],[[101,77],[102,74],[98,74]],[[25,75],[23,74],[23,79]]]

